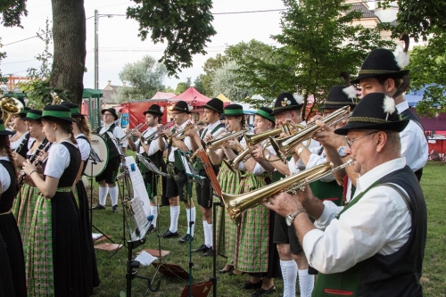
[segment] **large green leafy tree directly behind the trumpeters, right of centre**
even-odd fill
[[[343,0],[284,0],[282,33],[273,38],[281,47],[270,48],[270,61],[259,54],[239,56],[243,82],[254,93],[277,96],[299,89],[307,103],[310,95],[321,102],[329,89],[342,83],[341,71],[357,73],[368,53],[377,47],[392,47],[379,29],[353,26],[362,16],[350,11]],[[274,62],[272,62],[274,61]]]

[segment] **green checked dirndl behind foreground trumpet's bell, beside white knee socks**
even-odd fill
[[[268,174],[244,174],[240,194],[266,186]],[[268,271],[269,210],[261,205],[246,210],[240,219],[240,241],[237,245],[235,268],[247,273]]]

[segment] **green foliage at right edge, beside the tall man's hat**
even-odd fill
[[[432,84],[426,87],[423,100],[417,103],[417,113],[434,117],[446,112],[446,33],[433,37],[428,46],[414,47],[408,69],[412,89]]]

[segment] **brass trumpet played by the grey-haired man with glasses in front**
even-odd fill
[[[244,211],[265,202],[266,199],[274,194],[286,192],[289,194],[297,194],[298,191],[303,191],[305,186],[311,184],[320,178],[327,177],[338,170],[352,165],[353,161],[349,160],[343,165],[334,168],[333,163],[325,162],[315,166],[311,169],[306,169],[298,174],[290,177],[285,177],[276,183],[268,186],[263,186],[255,191],[245,194],[222,194],[223,202],[227,208],[227,213],[235,224],[240,223],[241,215]]]

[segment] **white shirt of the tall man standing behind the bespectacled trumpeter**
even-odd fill
[[[403,101],[396,105],[398,112],[409,109],[409,103]],[[419,125],[409,120],[408,126],[400,133],[401,138],[401,157],[405,157],[409,167],[417,171],[425,166],[429,155],[429,147],[425,139],[425,132]]]

